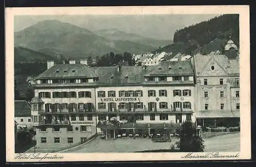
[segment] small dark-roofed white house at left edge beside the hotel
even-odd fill
[[[31,127],[31,107],[27,101],[14,101],[14,120],[18,127]]]

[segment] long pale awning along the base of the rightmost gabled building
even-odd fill
[[[196,118],[225,118],[225,117],[240,117],[240,111],[228,110],[202,110],[195,111]]]

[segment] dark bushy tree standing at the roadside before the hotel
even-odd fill
[[[190,121],[182,124],[180,132],[180,151],[181,152],[203,152],[204,140],[197,135],[196,128]]]

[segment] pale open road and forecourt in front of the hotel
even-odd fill
[[[211,137],[205,140],[205,152],[212,151],[239,151],[240,150],[239,133],[226,134],[216,137]],[[74,153],[102,153],[102,152],[135,152],[144,150],[159,150],[169,149],[172,142],[152,142],[148,138],[121,138],[116,140],[102,140],[100,137],[92,140],[82,148],[73,151]]]

